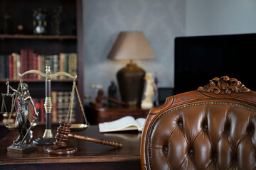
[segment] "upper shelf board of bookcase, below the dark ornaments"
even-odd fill
[[[9,35],[1,34],[0,39],[31,39],[31,40],[75,40],[76,35]]]

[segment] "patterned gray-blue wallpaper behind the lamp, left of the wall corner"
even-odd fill
[[[143,31],[156,60],[135,61],[157,75],[164,87],[174,86],[174,38],[185,35],[186,0],[83,0],[84,86],[100,84],[107,95],[110,81],[128,61],[107,59],[120,31]]]

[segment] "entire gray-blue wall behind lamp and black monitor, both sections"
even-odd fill
[[[174,86],[174,38],[185,35],[256,33],[255,0],[83,0],[85,94],[92,84],[116,81],[127,61],[107,60],[120,31],[141,30],[156,60],[137,61]]]

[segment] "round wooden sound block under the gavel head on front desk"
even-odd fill
[[[63,155],[63,154],[75,154],[75,152],[78,152],[78,148],[74,146],[67,146],[67,147],[59,147],[56,145],[52,145],[46,149],[46,154],[57,154],[57,155]]]

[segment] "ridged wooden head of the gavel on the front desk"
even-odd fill
[[[59,147],[66,147],[66,142],[68,141],[68,134],[70,133],[70,123],[64,123],[60,121],[60,126],[57,128],[57,133],[55,135],[54,145]]]

